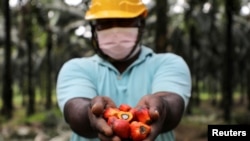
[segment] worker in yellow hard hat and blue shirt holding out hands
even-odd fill
[[[57,100],[71,141],[121,141],[103,118],[108,107],[146,107],[152,123],[144,141],[174,141],[191,97],[185,60],[141,43],[148,9],[141,0],[92,0],[90,57],[72,58],[57,78]]]

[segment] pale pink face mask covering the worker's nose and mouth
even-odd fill
[[[97,31],[99,48],[104,54],[115,60],[125,59],[125,57],[129,55],[129,53],[135,46],[137,35],[137,27],[114,27]],[[134,56],[138,51],[139,47],[135,49],[130,57]]]

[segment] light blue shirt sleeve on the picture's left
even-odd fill
[[[93,74],[89,71],[90,66],[84,64],[82,59],[72,59],[66,62],[59,71],[56,94],[62,112],[66,102],[72,98],[93,98],[96,96]]]

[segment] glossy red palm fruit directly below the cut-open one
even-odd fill
[[[108,124],[111,126],[114,133],[120,138],[127,139],[130,137],[130,124],[127,120],[110,117]]]

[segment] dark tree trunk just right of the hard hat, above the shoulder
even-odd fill
[[[157,53],[166,52],[167,48],[167,7],[166,0],[156,0],[155,51]]]

